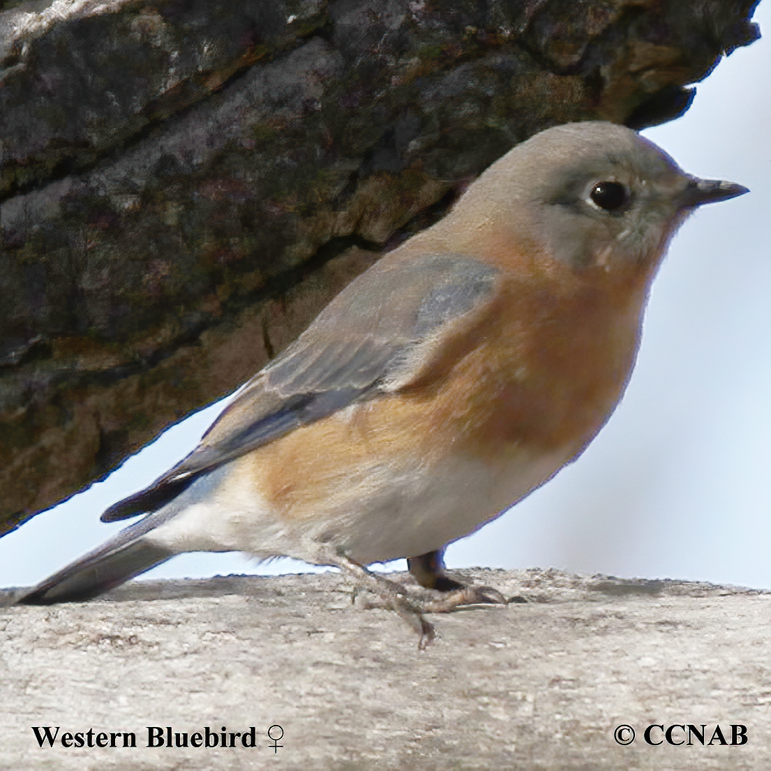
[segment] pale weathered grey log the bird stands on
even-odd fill
[[[433,616],[440,636],[423,652],[392,611],[352,608],[338,574],[133,582],[88,603],[0,608],[0,766],[771,767],[771,595],[553,570],[459,572],[520,601]],[[614,740],[621,724],[636,732],[628,746]],[[662,743],[651,746],[651,724],[703,724],[705,745],[668,744],[654,729]],[[274,725],[284,732],[276,750]],[[707,743],[717,725],[727,745]],[[732,725],[746,726],[746,744],[731,746]],[[32,726],[135,732],[136,748],[41,749]],[[166,726],[255,726],[259,747],[151,749],[146,726],[164,736]],[[685,742],[684,730],[671,736]]]

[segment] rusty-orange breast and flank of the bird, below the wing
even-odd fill
[[[368,475],[403,468],[406,457],[432,474],[448,456],[503,466],[522,449],[578,453],[625,388],[645,282],[525,275],[503,274],[495,300],[443,341],[412,387],[251,453],[261,493],[287,517],[307,517],[340,485],[364,490]]]

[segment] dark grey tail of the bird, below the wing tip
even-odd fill
[[[155,519],[157,514],[121,530],[106,544],[83,555],[22,595],[17,604],[49,605],[88,600],[167,561],[177,552],[143,538],[154,527],[154,522],[150,520]]]

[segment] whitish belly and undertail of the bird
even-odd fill
[[[497,517],[567,460],[565,452],[537,460],[522,453],[505,466],[456,459],[441,473],[419,458],[396,470],[373,463],[340,480],[312,517],[271,510],[229,463],[168,504],[179,513],[148,537],[177,551],[235,550],[311,564],[328,564],[330,546],[359,564],[416,557]]]

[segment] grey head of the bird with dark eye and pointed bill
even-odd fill
[[[483,221],[470,237],[478,241],[486,229],[497,231],[514,246],[535,246],[579,270],[655,267],[695,207],[746,192],[741,185],[686,174],[624,126],[567,123],[493,163],[466,191],[448,224],[456,231],[464,221]]]

